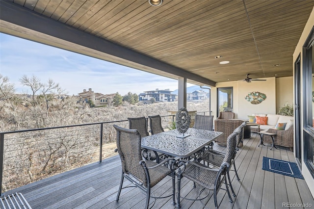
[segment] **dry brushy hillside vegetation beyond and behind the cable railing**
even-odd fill
[[[20,131],[49,127],[105,123],[101,135],[100,124],[65,127],[4,134],[2,192],[32,183],[87,163],[99,160],[103,153],[115,154],[108,144],[115,142],[113,124],[128,127],[128,117],[169,115],[177,110],[177,102],[143,104],[123,102],[106,107],[78,104],[77,97],[64,97],[57,83],[40,82],[36,77],[23,77],[28,94],[15,94],[14,85],[0,75],[0,131]],[[62,98],[62,99],[60,99]],[[208,111],[209,101],[188,103],[188,110]],[[163,121],[167,128],[167,121]],[[103,145],[100,148],[102,137]],[[109,149],[109,148],[108,148]],[[104,154],[102,158],[106,157]]]

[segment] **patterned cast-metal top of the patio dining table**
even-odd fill
[[[183,136],[179,131],[171,130],[142,137],[141,147],[170,157],[188,158],[221,134],[218,131],[189,128]]]

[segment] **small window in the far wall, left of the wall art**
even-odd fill
[[[233,87],[217,88],[217,115],[219,112],[233,111]]]

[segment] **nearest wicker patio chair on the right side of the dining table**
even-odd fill
[[[179,161],[179,165],[183,166],[183,168],[179,168],[178,170],[178,202],[177,202],[177,208],[181,208],[180,206],[180,191],[181,191],[181,178],[182,177],[186,177],[187,179],[193,181],[194,185],[193,187],[195,187],[195,183],[204,186],[205,188],[209,189],[209,190],[213,190],[213,194],[214,194],[214,203],[215,203],[215,207],[216,209],[218,209],[218,204],[217,204],[217,193],[221,187],[221,185],[223,183],[225,183],[226,185],[226,190],[229,196],[229,201],[231,203],[233,203],[233,200],[231,198],[230,195],[230,191],[229,191],[229,186],[227,183],[227,174],[228,174],[228,170],[230,168],[230,164],[229,162],[231,161],[231,158],[234,154],[234,141],[236,140],[237,133],[231,133],[228,137],[228,146],[227,146],[227,152],[226,155],[224,157],[224,159],[222,160],[221,165],[219,166],[219,169],[211,169],[197,161],[189,161],[189,160],[180,160]],[[200,190],[199,192],[199,196],[198,199],[196,200],[200,200],[201,203],[202,199],[201,198],[201,193],[202,193],[203,189]],[[203,206],[205,206],[203,204]]]

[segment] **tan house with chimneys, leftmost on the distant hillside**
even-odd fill
[[[83,92],[78,93],[78,102],[79,104],[86,104],[88,100],[91,100],[96,105],[110,104],[112,103],[114,95],[115,94],[104,95],[102,93],[95,93],[91,88],[89,88],[88,91],[83,89]]]

